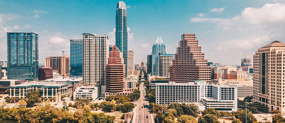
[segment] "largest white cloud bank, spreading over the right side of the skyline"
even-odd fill
[[[215,43],[206,43],[204,50],[210,61],[224,65],[238,65],[241,57],[233,56],[246,54],[252,58],[258,48],[285,39],[285,5],[280,3],[267,3],[260,8],[248,7],[232,18],[194,17],[190,18],[190,22],[217,25],[218,28],[213,30],[217,39],[209,39]]]

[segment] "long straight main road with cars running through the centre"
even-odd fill
[[[137,106],[134,108],[134,118],[132,120],[132,123],[153,123],[152,115],[149,113],[149,103],[146,101],[146,98],[144,97],[144,94],[146,90],[144,89],[143,82],[141,82],[141,85],[139,86],[140,90],[140,98],[138,101],[135,102]],[[145,105],[143,105],[145,104]],[[143,107],[143,108],[142,108]],[[148,118],[146,118],[148,116]]]

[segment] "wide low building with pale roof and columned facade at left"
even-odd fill
[[[9,86],[9,97],[25,98],[29,92],[36,90],[40,90],[41,97],[45,98],[56,97],[58,92],[60,92],[60,95],[67,96],[69,93],[72,93],[72,86],[72,83],[69,82],[26,82]]]

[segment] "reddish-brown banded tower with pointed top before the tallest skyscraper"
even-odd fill
[[[123,92],[125,87],[125,67],[123,54],[115,45],[110,52],[108,65],[106,66],[106,95],[116,95]]]

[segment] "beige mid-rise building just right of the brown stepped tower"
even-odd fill
[[[214,68],[214,79],[230,79],[230,71],[236,71],[236,66],[223,66]]]

